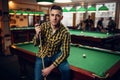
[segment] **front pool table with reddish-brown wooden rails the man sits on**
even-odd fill
[[[34,63],[38,47],[34,47],[32,42],[24,42],[11,45],[10,50],[21,60]],[[84,57],[83,54],[86,56]],[[72,80],[109,79],[120,70],[119,52],[111,52],[96,47],[71,44],[68,61]]]

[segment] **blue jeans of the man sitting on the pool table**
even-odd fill
[[[45,66],[49,66],[48,64],[54,62],[56,58],[60,56],[61,52],[55,54],[52,57],[45,57],[44,64]],[[70,80],[70,67],[67,60],[64,60],[59,66],[58,69],[61,73],[62,80]],[[42,76],[42,59],[37,57],[35,62],[35,80],[43,80]]]

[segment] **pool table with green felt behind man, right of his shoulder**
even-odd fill
[[[95,31],[82,31],[75,29],[69,29],[69,31],[71,34],[72,43],[96,46],[96,47],[101,47],[100,43],[102,42],[102,39],[114,35],[107,32],[103,33],[103,32],[95,32]]]

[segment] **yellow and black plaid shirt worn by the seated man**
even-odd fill
[[[38,51],[38,57],[48,56],[51,57],[55,53],[61,51],[61,55],[53,62],[54,66],[58,66],[63,60],[67,59],[70,52],[70,32],[60,24],[59,29],[53,34],[50,22],[41,24],[41,40],[42,40],[42,53]],[[39,38],[34,36],[34,45],[40,45]]]

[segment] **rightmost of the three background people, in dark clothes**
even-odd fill
[[[109,33],[114,33],[116,29],[116,23],[112,19],[112,17],[109,17],[109,22],[108,22],[108,32]]]

